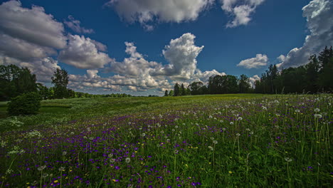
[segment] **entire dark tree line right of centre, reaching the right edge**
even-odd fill
[[[332,93],[333,91],[333,49],[324,48],[319,55],[312,55],[304,66],[282,68],[270,65],[251,87],[246,75],[213,75],[208,84],[193,82],[187,88],[184,84],[174,85],[174,90],[165,90],[164,96],[207,95],[226,93]]]

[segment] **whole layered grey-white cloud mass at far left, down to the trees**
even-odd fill
[[[66,46],[63,23],[41,6],[21,7],[20,1],[0,5],[0,65],[28,67],[38,81],[50,82],[59,68],[49,56]]]

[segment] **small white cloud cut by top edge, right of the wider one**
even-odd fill
[[[247,25],[251,21],[251,14],[255,12],[257,6],[265,0],[220,0],[221,8],[226,14],[233,17],[233,21],[229,21],[227,28],[233,28],[240,25]]]

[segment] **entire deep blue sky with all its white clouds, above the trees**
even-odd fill
[[[331,0],[169,2],[0,1],[0,64],[28,66],[46,85],[65,68],[77,91],[162,95],[214,74],[254,81],[333,43]]]

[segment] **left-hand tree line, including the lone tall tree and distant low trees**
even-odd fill
[[[51,78],[53,87],[48,88],[36,82],[36,75],[28,68],[19,68],[15,65],[0,66],[0,100],[11,100],[18,95],[36,92],[41,98],[125,98],[131,97],[125,93],[112,93],[107,95],[93,95],[90,93],[76,92],[67,88],[68,72],[57,68]]]

